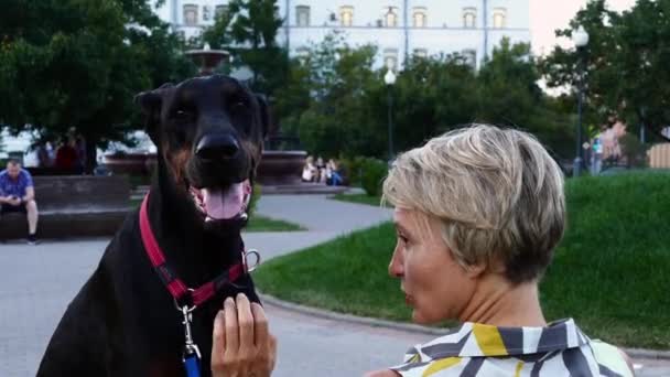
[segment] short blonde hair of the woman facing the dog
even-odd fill
[[[542,276],[565,224],[556,162],[531,134],[487,125],[400,154],[383,201],[439,219],[461,266],[502,263],[512,283]]]

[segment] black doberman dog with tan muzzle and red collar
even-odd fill
[[[226,76],[166,84],[136,97],[159,150],[149,224],[172,270],[188,287],[241,262],[240,230],[251,195],[268,108]],[[107,247],[67,308],[37,376],[185,376],[183,315],[149,260],[139,211]],[[192,333],[210,376],[214,317],[226,297],[258,302],[244,274],[193,311]]]

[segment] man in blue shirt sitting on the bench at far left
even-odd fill
[[[33,179],[14,159],[9,160],[7,169],[0,172],[0,215],[11,212],[28,214],[28,243],[34,245],[39,214]]]

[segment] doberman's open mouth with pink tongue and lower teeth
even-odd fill
[[[246,216],[251,200],[249,180],[233,183],[223,188],[190,187],[196,207],[205,216],[205,222],[228,220]]]

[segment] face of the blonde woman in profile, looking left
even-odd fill
[[[440,222],[411,209],[393,213],[398,244],[389,263],[389,273],[400,279],[406,302],[417,323],[457,319],[477,282],[452,257],[440,235]],[[425,224],[429,225],[425,229]]]

